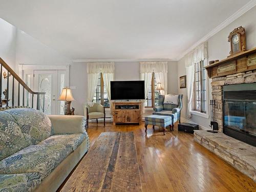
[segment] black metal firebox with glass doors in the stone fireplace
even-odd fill
[[[256,146],[256,83],[223,86],[223,133]]]

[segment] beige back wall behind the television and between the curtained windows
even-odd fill
[[[140,80],[139,61],[115,62],[115,80]],[[168,61],[168,93],[177,93],[177,61]],[[87,101],[87,65],[76,62],[70,66],[70,86],[75,101],[72,102],[75,114],[83,115],[83,103]],[[148,112],[150,114],[150,112]],[[109,116],[109,114],[108,114]]]

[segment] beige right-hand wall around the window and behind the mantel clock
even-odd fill
[[[241,17],[234,20],[227,27],[216,33],[208,39],[208,60],[224,59],[229,55],[230,44],[227,41],[229,33],[239,26],[243,26],[246,31],[246,48],[252,49],[256,47],[256,6],[243,14]],[[185,59],[184,57],[178,61],[178,78],[186,75]],[[211,80],[208,80],[208,100],[211,99]],[[181,117],[188,121],[195,122],[203,127],[209,128],[209,118],[193,115],[192,118],[187,117],[187,90],[180,89],[178,86],[178,93],[183,94],[184,107],[181,112]]]

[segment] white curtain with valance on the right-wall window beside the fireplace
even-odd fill
[[[191,111],[194,110],[194,81],[195,81],[195,63],[207,60],[207,41],[196,47],[185,56],[185,66],[187,75],[187,115],[191,117]]]

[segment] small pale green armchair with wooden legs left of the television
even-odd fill
[[[92,105],[92,106],[90,106]],[[104,118],[104,126],[105,126],[105,108],[100,103],[93,102],[84,104],[84,116],[86,116],[87,126],[89,127],[89,119],[96,119],[98,123],[99,118]]]

